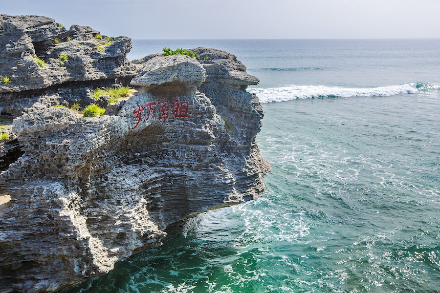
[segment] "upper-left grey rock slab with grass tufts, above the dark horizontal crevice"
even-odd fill
[[[66,31],[46,17],[0,16],[0,73],[10,80],[0,83],[0,93],[135,75],[135,65],[126,58],[131,48],[127,37],[106,39],[78,25]],[[37,64],[36,58],[45,64]]]

